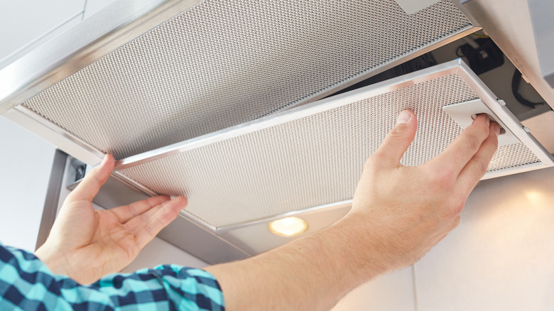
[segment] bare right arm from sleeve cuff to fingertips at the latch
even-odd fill
[[[211,266],[227,310],[329,310],[353,288],[417,261],[460,222],[487,170],[498,124],[477,119],[428,163],[400,159],[417,121],[403,111],[367,160],[352,210],[331,227],[244,261]]]

